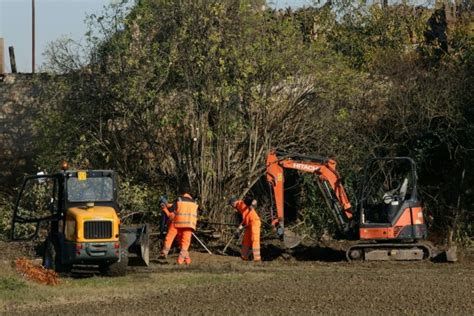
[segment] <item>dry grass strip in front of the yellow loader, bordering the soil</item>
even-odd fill
[[[181,270],[181,271],[179,271]],[[184,270],[184,271],[183,271]],[[259,272],[213,273],[211,269],[166,267],[159,273],[133,273],[125,277],[64,277],[59,285],[38,284],[17,273],[10,264],[0,266],[0,313],[4,310],[32,310],[47,305],[100,303],[130,299],[150,293],[167,293],[201,285],[240,282],[262,278]]]

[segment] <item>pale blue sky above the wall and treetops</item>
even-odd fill
[[[118,0],[35,0],[36,61],[38,71],[44,62],[48,43],[62,37],[84,41],[87,15],[100,13],[105,5]],[[310,5],[311,0],[273,0],[277,7]],[[31,3],[32,0],[0,0],[0,38],[4,40],[6,72],[10,72],[8,47],[15,48],[18,72],[31,72]]]

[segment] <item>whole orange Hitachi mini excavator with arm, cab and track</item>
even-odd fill
[[[344,238],[357,241],[347,249],[347,260],[431,258],[432,249],[427,242],[423,242],[427,227],[417,195],[413,159],[370,159],[365,166],[355,210],[336,170],[336,161],[332,159],[273,150],[267,156],[266,166],[267,181],[276,204],[276,216],[272,210],[272,225],[287,247],[292,248],[299,243],[295,242],[298,237],[284,225],[284,170],[294,169],[315,175],[339,231]],[[385,168],[387,166],[389,171]]]

